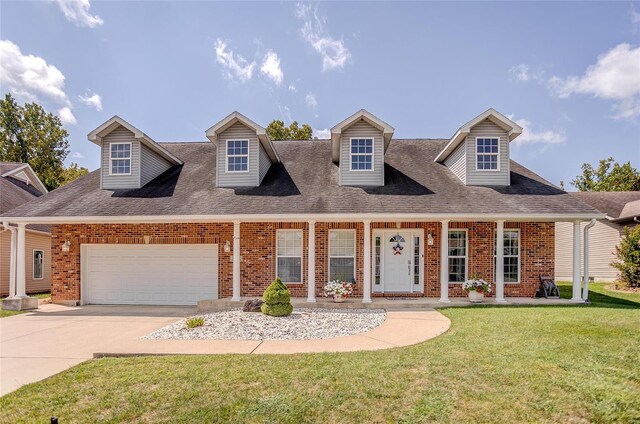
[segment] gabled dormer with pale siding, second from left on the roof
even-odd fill
[[[280,162],[266,129],[239,112],[209,128],[216,145],[216,187],[258,187],[272,163]]]

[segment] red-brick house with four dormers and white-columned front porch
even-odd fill
[[[275,141],[234,112],[208,141],[158,143],[115,116],[88,136],[99,170],[6,219],[52,224],[59,303],[240,300],[276,276],[310,302],[333,279],[363,302],[447,302],[473,276],[533,296],[554,223],[603,215],[509,159],[521,132],[489,109],[451,139],[393,139],[360,110],[329,140]]]

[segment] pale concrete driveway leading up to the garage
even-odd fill
[[[0,396],[194,313],[186,307],[41,305],[2,318]]]

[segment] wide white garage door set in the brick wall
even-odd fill
[[[84,302],[195,305],[218,298],[218,245],[83,245]]]

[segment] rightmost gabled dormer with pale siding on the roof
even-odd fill
[[[488,109],[462,125],[438,154],[465,185],[508,186],[511,184],[509,143],[522,134],[522,127],[495,109]]]

